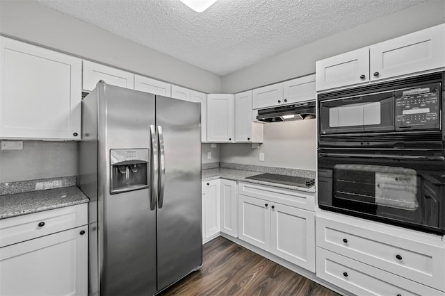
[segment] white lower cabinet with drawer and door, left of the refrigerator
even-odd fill
[[[0,295],[87,295],[87,212],[81,204],[1,220]]]

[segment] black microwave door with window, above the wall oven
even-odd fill
[[[320,101],[320,135],[394,131],[394,92]]]

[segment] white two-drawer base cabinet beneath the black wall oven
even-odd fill
[[[357,295],[445,295],[445,242],[436,236],[317,213],[317,277]]]

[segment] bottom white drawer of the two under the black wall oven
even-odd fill
[[[317,247],[317,277],[355,295],[445,295],[370,265]]]

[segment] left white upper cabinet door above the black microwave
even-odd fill
[[[316,62],[316,90],[369,81],[369,47]]]

